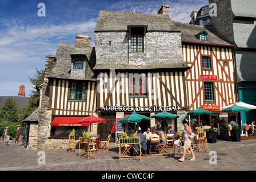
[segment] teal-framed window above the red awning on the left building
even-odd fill
[[[71,82],[69,100],[85,100],[85,83]]]

